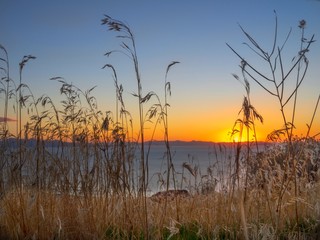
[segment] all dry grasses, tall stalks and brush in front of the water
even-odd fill
[[[277,18],[276,18],[277,19]],[[184,163],[182,177],[175,170],[169,141],[168,97],[171,84],[165,71],[164,94],[144,94],[131,29],[105,16],[102,24],[116,32],[121,51],[133,63],[139,109],[136,136],[126,109],[123,86],[115,67],[106,64],[114,79],[116,112],[104,114],[92,92],[82,91],[61,77],[63,97],[56,105],[50,96],[36,98],[23,81],[23,69],[32,55],[24,56],[19,68],[19,84],[10,78],[8,53],[0,46],[4,122],[0,146],[0,238],[4,239],[317,239],[320,237],[319,199],[320,143],[310,136],[318,108],[315,103],[308,131],[295,136],[298,91],[308,69],[306,54],[313,36],[305,37],[305,21],[300,21],[301,47],[286,72],[282,50],[287,41],[271,51],[243,29],[250,49],[270,68],[262,74],[241,54],[241,77],[246,96],[232,136],[255,136],[256,122],[263,116],[253,107],[249,80],[278,100],[283,127],[270,133],[270,147],[263,151],[257,139],[234,142],[232,154],[217,150],[215,164],[206,174]],[[288,34],[289,38],[290,33]],[[293,76],[292,76],[293,75]],[[290,83],[290,81],[294,82]],[[292,86],[287,88],[287,86]],[[8,130],[9,104],[16,114],[16,132]],[[289,108],[290,106],[290,108]],[[62,109],[61,109],[62,108]],[[22,119],[28,114],[28,121]],[[166,169],[159,175],[163,190],[188,189],[190,194],[155,201],[148,195],[149,153],[146,122],[154,131],[161,128],[166,147]],[[24,124],[24,125],[23,125]],[[249,133],[253,134],[249,134]],[[229,146],[230,147],[230,146]],[[220,152],[219,152],[220,151]],[[223,162],[223,171],[217,166]],[[193,178],[194,181],[188,181]],[[187,180],[185,180],[187,179]]]

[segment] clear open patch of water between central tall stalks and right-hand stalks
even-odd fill
[[[170,151],[175,172],[175,181],[170,175],[170,188],[199,190],[220,181],[232,166],[234,148],[231,144],[209,142],[171,142]],[[167,150],[164,143],[152,145],[149,160],[150,192],[166,188]]]

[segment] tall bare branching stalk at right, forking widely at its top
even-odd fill
[[[282,59],[282,52],[283,48],[291,34],[291,30],[289,31],[285,41],[281,46],[277,46],[278,41],[278,23],[277,23],[277,16],[275,15],[275,33],[274,33],[274,40],[273,40],[273,46],[271,51],[264,50],[255,40],[253,37],[251,37],[250,34],[248,34],[241,26],[241,30],[244,33],[244,35],[249,40],[249,43],[245,43],[246,46],[249,47],[250,50],[252,50],[258,58],[261,58],[266,65],[268,66],[270,70],[270,76],[267,74],[264,74],[261,70],[259,70],[258,67],[254,66],[253,62],[249,62],[246,59],[244,59],[236,50],[234,50],[229,44],[227,46],[234,52],[243,62],[242,72],[245,74],[245,76],[248,76],[250,79],[252,79],[255,83],[257,83],[262,89],[264,89],[267,93],[269,93],[271,96],[275,97],[278,101],[280,112],[283,120],[284,127],[282,129],[279,129],[275,131],[275,133],[279,134],[280,132],[285,134],[286,141],[287,141],[287,148],[288,152],[285,159],[285,173],[289,172],[290,166],[290,176],[287,177],[287,174],[283,175],[281,188],[279,191],[279,200],[278,200],[278,207],[277,207],[277,213],[278,213],[278,222],[281,217],[281,208],[282,208],[282,200],[285,192],[287,191],[287,188],[289,186],[289,183],[293,180],[294,189],[295,189],[295,198],[298,197],[298,191],[297,191],[297,176],[296,176],[296,157],[295,157],[295,151],[293,149],[293,128],[295,128],[295,115],[296,115],[296,104],[297,104],[297,96],[298,96],[298,90],[301,87],[302,82],[305,79],[305,75],[308,69],[309,61],[307,59],[306,54],[309,52],[309,48],[311,44],[314,42],[314,35],[310,38],[310,40],[305,39],[304,37],[304,28],[306,22],[304,20],[301,20],[299,23],[299,28],[302,29],[302,37],[301,37],[301,44],[300,49],[298,51],[298,55],[293,58],[292,66],[289,68],[289,70],[285,71],[283,59]],[[304,46],[305,43],[305,46]],[[294,70],[297,69],[297,75],[296,75],[296,83],[293,88],[293,90],[288,89],[288,81],[293,74]],[[268,84],[273,86],[269,87]],[[291,122],[288,121],[288,115],[286,114],[286,109],[288,107],[288,103],[293,101],[293,108],[291,110]],[[296,221],[297,225],[299,222],[299,214],[298,214],[298,203],[297,200],[295,200],[295,209],[296,209]],[[279,227],[279,226],[277,226]]]

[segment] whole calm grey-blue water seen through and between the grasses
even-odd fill
[[[23,145],[20,159],[19,147],[16,141],[13,141],[6,148],[2,148],[1,181],[3,186],[8,188],[12,184],[19,183],[18,179],[22,179],[25,186],[39,184],[40,187],[54,191],[109,192],[114,189],[122,191],[123,186],[129,186],[130,189],[137,191],[140,186],[139,177],[142,175],[140,145],[132,144],[131,146],[135,146],[135,151],[124,150],[125,156],[119,157],[117,154],[121,155],[121,151],[112,149],[113,145],[109,145],[108,155],[104,155],[103,145],[76,144],[73,148],[72,144],[65,143],[62,151],[56,143],[45,142],[44,149],[42,146],[37,146],[36,142],[29,141]],[[167,182],[169,182],[170,189],[187,189],[202,193],[228,190],[228,186],[234,183],[237,156],[235,144],[170,142],[173,167],[170,168],[169,181],[167,181],[168,163],[165,144],[153,142],[150,152],[148,146],[147,142],[145,161],[148,163],[148,194],[165,190]],[[280,153],[286,152],[285,146],[285,144],[260,143],[259,151],[271,150],[269,153],[265,152],[266,156],[270,155],[270,159],[276,160]],[[314,165],[318,169],[319,143],[315,141],[297,142],[296,151],[300,152],[301,148],[304,154],[299,155],[300,162]],[[255,157],[253,155],[256,151],[255,146],[252,145],[250,150],[252,151],[250,156]],[[245,173],[245,154],[246,146],[243,145],[239,158],[240,163],[244,164],[240,166],[240,178]],[[121,159],[126,160],[123,163]],[[123,171],[124,166],[125,171]],[[131,171],[129,171],[129,166]]]

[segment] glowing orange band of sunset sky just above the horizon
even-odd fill
[[[276,109],[274,107],[274,109]],[[235,107],[225,110],[224,114],[212,113],[202,114],[201,117],[196,116],[184,116],[176,115],[173,109],[169,110],[168,121],[169,121],[169,138],[170,140],[183,140],[183,141],[213,141],[213,142],[229,142],[239,139],[239,134],[236,134],[234,138],[231,138],[230,133],[232,127],[237,118],[241,118],[238,115],[238,110]],[[258,141],[265,141],[267,135],[273,130],[280,129],[283,127],[283,121],[281,121],[280,111],[268,110],[262,111],[264,117],[264,124],[256,122],[256,131]],[[24,116],[26,116],[25,110],[23,110]],[[289,114],[288,114],[289,116]],[[291,116],[291,115],[290,115]],[[296,117],[296,129],[294,129],[294,135],[304,137],[307,133],[306,124],[310,123],[312,112],[308,114],[298,115]],[[308,118],[309,117],[309,118]],[[23,118],[23,124],[25,124],[26,117]],[[30,120],[29,120],[30,121]],[[134,138],[137,138],[139,133],[138,118],[134,118]],[[319,117],[316,118],[319,121]],[[10,121],[9,130],[15,134],[16,122]],[[319,133],[319,124],[314,123],[310,136]],[[145,123],[145,141],[151,140],[151,134],[154,131],[155,122]],[[250,130],[250,140],[253,139],[253,132]],[[162,124],[157,125],[157,129],[154,135],[154,140],[164,139],[164,129]],[[246,131],[243,133],[242,141],[246,140]]]

